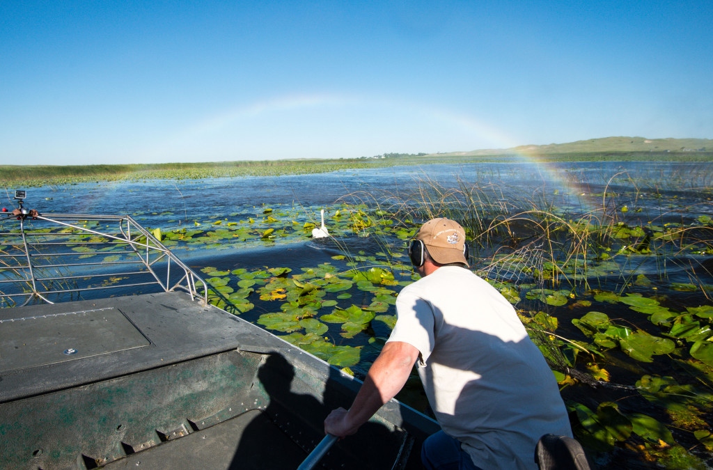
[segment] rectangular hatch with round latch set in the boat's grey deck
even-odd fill
[[[144,347],[150,341],[113,307],[0,320],[0,372]]]

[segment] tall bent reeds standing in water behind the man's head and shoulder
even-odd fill
[[[617,192],[610,187],[614,180]],[[622,191],[622,181],[627,183],[626,191]],[[692,249],[712,250],[712,228],[700,223],[663,223],[674,215],[664,206],[653,215],[649,210],[650,220],[642,220],[637,212],[640,203],[647,199],[651,205],[651,200],[660,201],[665,196],[643,194],[628,173],[612,175],[600,193],[586,194],[586,200],[560,195],[545,183],[532,188],[531,193],[525,193],[503,182],[493,183],[492,178],[456,178],[456,184],[443,185],[424,177],[409,192],[377,189],[348,198],[376,208],[372,214],[388,214],[396,226],[404,228],[399,236],[404,242],[382,237],[384,251],[389,253],[403,251],[406,240],[425,220],[458,220],[466,229],[473,269],[502,291],[510,292],[511,299],[518,299],[523,290],[544,292],[538,298],[545,300],[545,313],[548,307],[558,306],[563,296],[577,298],[593,290],[623,295],[639,270],[645,268],[647,275],[665,279],[667,270],[682,263],[689,263],[686,269],[691,282],[708,295],[705,281],[711,273],[704,264],[690,265],[691,260],[683,260],[682,255]],[[378,224],[379,217],[374,215],[369,225]],[[554,297],[547,293],[550,291],[555,292]],[[541,323],[532,321],[538,312],[521,312],[533,329]],[[535,335],[548,349],[557,349],[548,346],[552,342],[548,339],[554,339],[552,332]]]

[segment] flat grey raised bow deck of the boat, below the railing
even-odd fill
[[[0,309],[0,400],[237,349],[262,335],[180,292]]]

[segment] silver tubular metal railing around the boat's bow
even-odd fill
[[[162,290],[207,304],[205,281],[128,215],[0,216],[0,307]]]

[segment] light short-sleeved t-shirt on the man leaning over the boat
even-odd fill
[[[438,423],[483,469],[537,469],[544,434],[572,436],[557,382],[512,305],[481,277],[443,266],[404,287],[389,342],[419,349]]]

